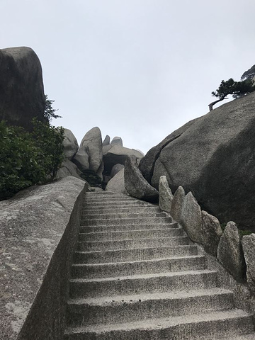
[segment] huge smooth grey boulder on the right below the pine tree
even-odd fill
[[[171,191],[192,191],[220,222],[254,229],[254,106],[252,93],[187,123],[149,150],[142,174],[155,188],[165,175]]]

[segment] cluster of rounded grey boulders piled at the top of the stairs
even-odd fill
[[[96,127],[86,132],[78,147],[73,133],[64,129],[63,144],[66,159],[57,173],[58,178],[69,175],[84,178],[84,174],[90,173],[98,176],[106,191],[130,194],[149,201],[157,200],[157,190],[147,183],[138,169],[144,154],[123,147],[121,137],[111,140],[106,135],[102,141],[101,130]]]

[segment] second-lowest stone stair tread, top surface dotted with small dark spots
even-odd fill
[[[149,300],[176,300],[185,299],[188,297],[212,296],[212,295],[226,295],[232,294],[231,290],[224,288],[208,288],[196,290],[174,290],[166,293],[145,293],[145,294],[132,294],[132,295],[112,295],[103,297],[86,297],[69,299],[69,305],[111,305],[123,304],[123,302],[140,302]]]

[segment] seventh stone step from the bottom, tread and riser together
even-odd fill
[[[160,225],[158,225],[160,228]],[[185,232],[181,228],[164,228],[152,230],[124,230],[116,232],[83,232],[79,233],[80,242],[106,242],[106,241],[122,241],[125,239],[149,239],[159,237],[176,237],[185,236]]]

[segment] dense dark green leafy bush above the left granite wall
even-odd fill
[[[0,122],[0,200],[53,179],[63,156],[64,129],[33,120],[33,131]]]

